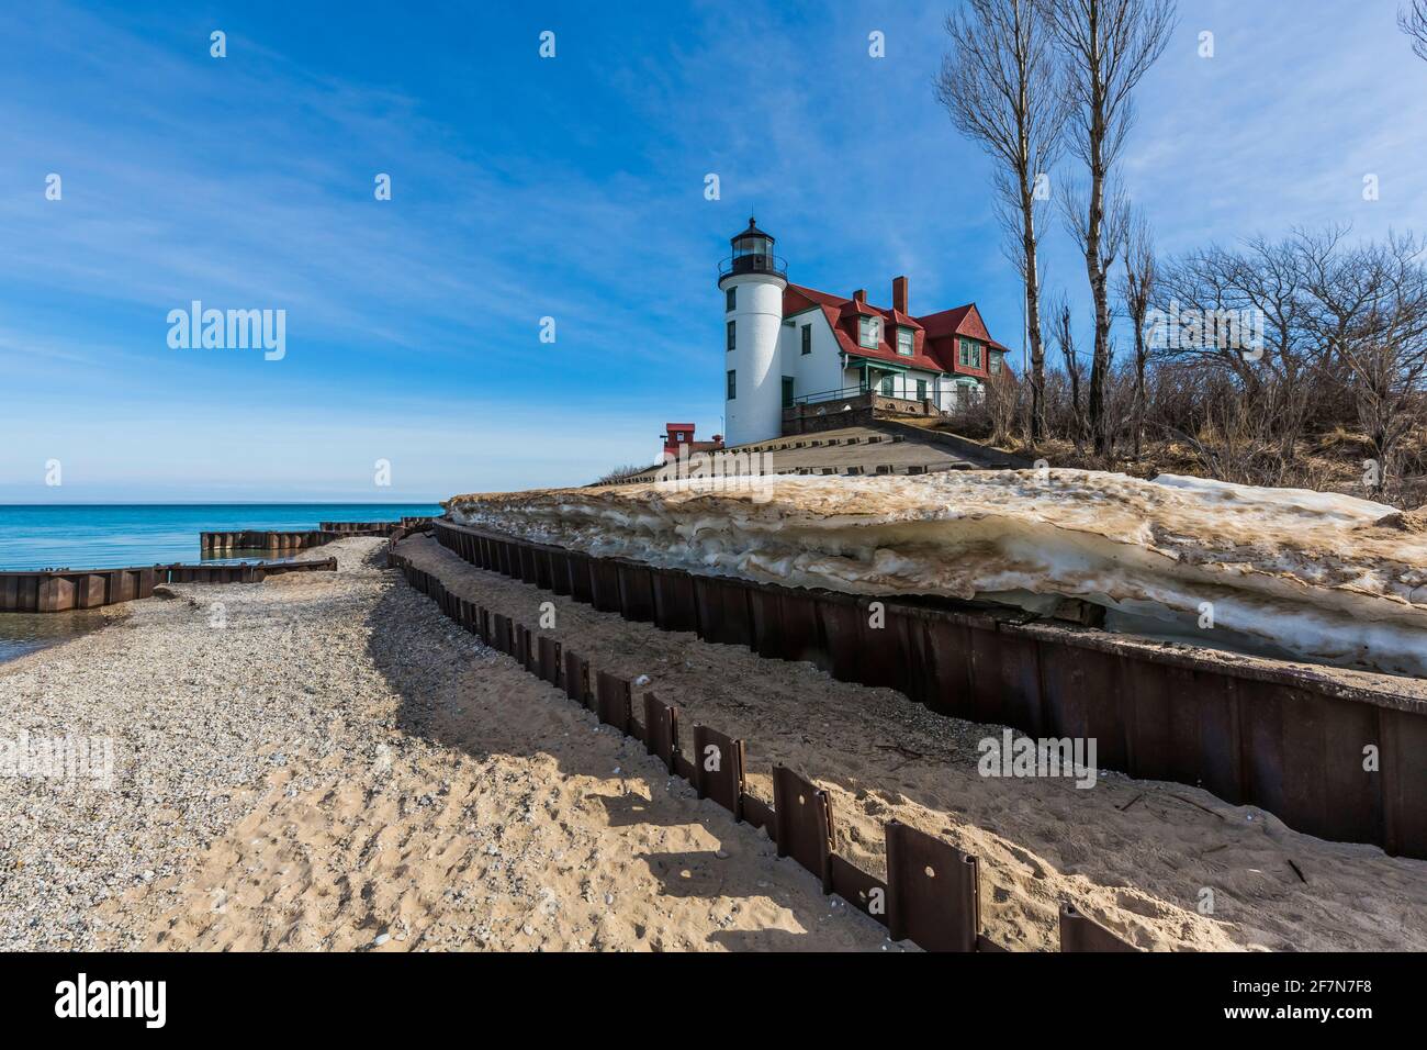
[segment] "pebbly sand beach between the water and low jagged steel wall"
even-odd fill
[[[0,780],[0,949],[900,950],[382,546],[0,667],[0,736],[113,736],[118,764]]]

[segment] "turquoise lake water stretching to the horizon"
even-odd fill
[[[434,503],[0,506],[0,571],[198,561],[198,533],[441,514]],[[250,560],[261,556],[251,554]]]

